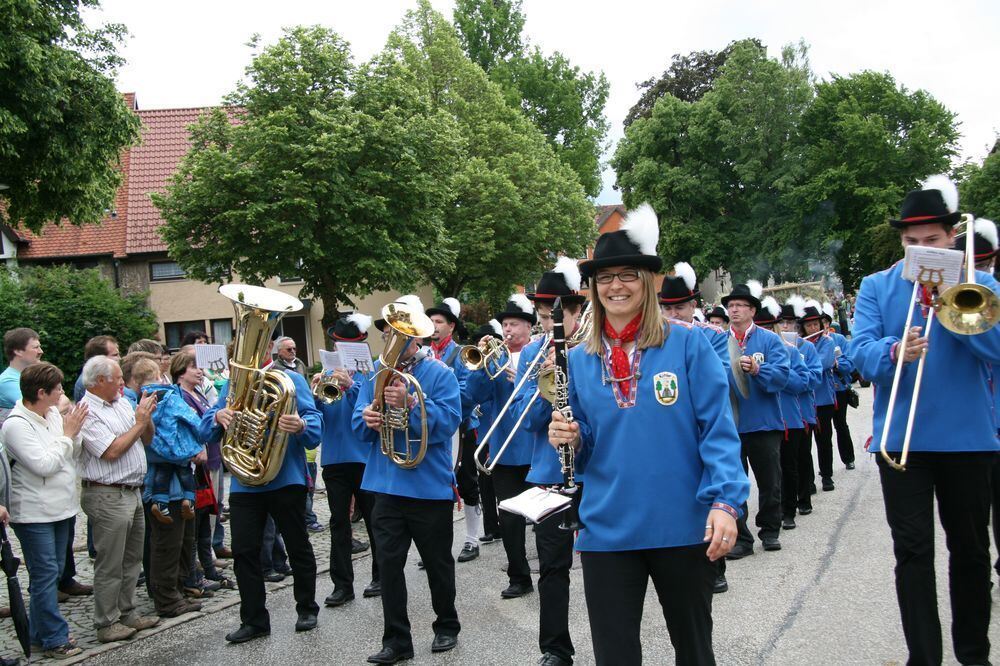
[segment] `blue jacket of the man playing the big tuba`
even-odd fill
[[[316,401],[312,397],[312,389],[305,377],[297,372],[286,372],[295,384],[295,407],[300,418],[306,423],[305,430],[289,435],[285,459],[281,463],[278,475],[270,483],[263,486],[245,486],[235,475],[229,484],[230,493],[263,493],[277,490],[285,486],[306,486],[306,449],[315,449],[323,438],[323,415],[316,409]],[[203,442],[222,437],[222,427],[215,422],[215,413],[226,406],[229,395],[229,382],[219,390],[219,399],[201,417],[198,428],[199,437]]]

